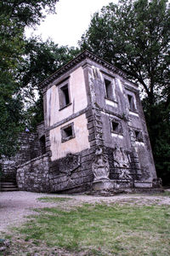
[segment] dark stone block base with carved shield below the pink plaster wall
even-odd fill
[[[94,180],[92,172],[93,151],[83,150],[79,154],[50,162],[49,183],[52,192],[83,192]]]

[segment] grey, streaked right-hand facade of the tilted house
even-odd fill
[[[111,98],[106,94],[105,79],[112,83]],[[95,136],[95,140],[103,138],[104,154],[110,164],[110,178],[152,183],[156,179],[156,170],[138,86],[99,65],[94,67],[93,63],[88,70],[88,84],[93,112],[96,116],[100,115],[102,124],[100,135]],[[111,121],[118,124],[118,131],[113,131]],[[98,124],[96,122],[95,127]],[[141,133],[141,140],[137,139],[135,132]]]

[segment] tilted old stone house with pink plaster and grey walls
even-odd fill
[[[20,189],[71,193],[156,186],[139,89],[126,73],[86,50],[39,86],[44,154],[18,166]]]

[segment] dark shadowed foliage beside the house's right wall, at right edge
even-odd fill
[[[170,106],[165,102],[150,107],[147,99],[143,101],[145,119],[148,124],[150,143],[156,163],[158,177],[163,184],[170,184]],[[154,113],[154,114],[153,114]]]

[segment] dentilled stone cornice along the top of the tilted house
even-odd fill
[[[55,73],[53,73],[51,76],[49,76],[48,79],[45,79],[44,81],[42,81],[42,83],[39,84],[38,86],[41,89],[44,88],[48,84],[52,83],[54,81],[54,79],[58,79],[59,76],[61,76],[63,73],[67,72],[69,69],[71,69],[72,67],[76,66],[79,62],[81,62],[81,61],[83,61],[85,59],[94,61],[94,62],[98,63],[99,65],[102,65],[103,67],[111,70],[112,72],[119,74],[124,79],[127,79],[127,74],[122,72],[121,69],[111,65],[109,62],[104,61],[103,59],[101,59],[98,56],[92,54],[91,52],[89,52],[86,49],[80,55],[77,55],[77,57],[74,58],[72,61],[70,61],[67,64],[65,64],[65,66],[59,68]]]

